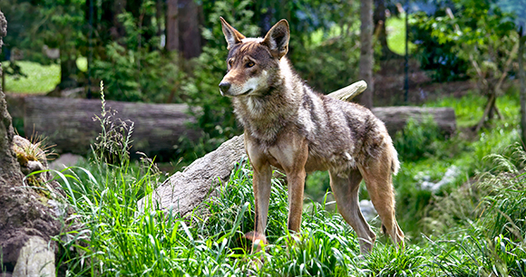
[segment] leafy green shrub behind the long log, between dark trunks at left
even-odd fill
[[[152,15],[153,2],[141,6],[141,14]],[[120,14],[119,20],[126,30],[123,45],[106,45],[106,58],[94,61],[93,75],[106,84],[108,100],[180,101],[180,83],[185,73],[179,67],[176,53],[162,53],[159,37],[142,37],[151,29],[131,13]]]

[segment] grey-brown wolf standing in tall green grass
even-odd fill
[[[384,123],[365,107],[319,94],[301,80],[285,56],[290,39],[287,20],[275,24],[264,38],[245,37],[220,20],[229,55],[219,91],[231,98],[245,129],[245,148],[254,170],[256,217],[248,238],[268,244],[265,228],[273,166],[287,176],[287,227],[293,233],[301,225],[307,173],[328,170],[338,211],[356,231],[361,253],[369,253],[376,238],[358,206],[362,179],[383,231],[403,247],[392,182],[399,162]]]

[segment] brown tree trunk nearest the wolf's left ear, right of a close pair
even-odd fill
[[[185,59],[201,53],[199,7],[194,0],[180,0],[179,49]]]

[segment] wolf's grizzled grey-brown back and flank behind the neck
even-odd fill
[[[396,174],[399,162],[393,141],[384,122],[371,110],[308,88],[304,92],[298,119],[313,154],[341,170],[366,165],[368,159],[386,155]]]

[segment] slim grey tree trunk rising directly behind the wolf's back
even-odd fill
[[[375,81],[373,79],[374,49],[373,49],[373,0],[361,0],[360,5],[360,79],[367,82],[367,90],[359,97],[358,102],[365,107],[373,108],[373,93]]]

